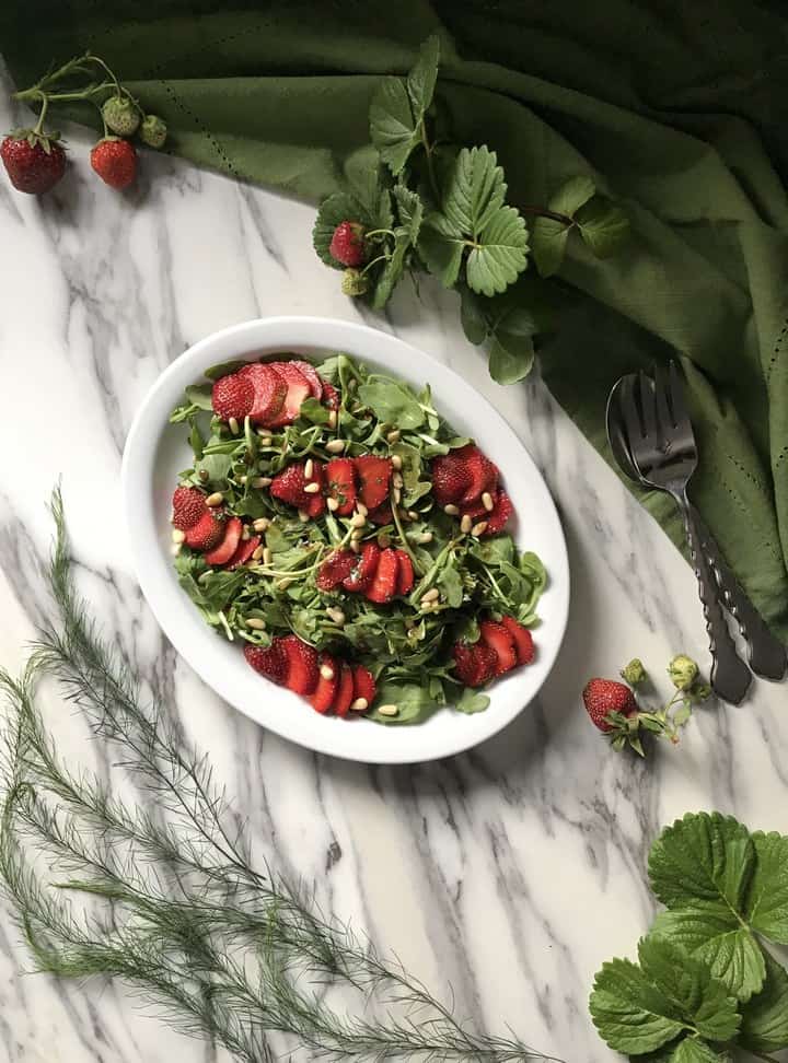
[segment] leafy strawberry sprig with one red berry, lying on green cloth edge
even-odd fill
[[[536,337],[551,327],[558,271],[572,233],[598,258],[626,238],[623,210],[588,175],[571,177],[547,206],[507,202],[495,151],[453,143],[433,96],[440,44],[429,37],[405,78],[384,78],[370,105],[364,173],[321,205],[318,257],[344,270],[343,292],[381,309],[406,272],[433,274],[462,300],[471,342],[486,343],[499,384],[531,370]],[[531,226],[526,218],[533,219]],[[542,280],[523,271],[533,258]]]

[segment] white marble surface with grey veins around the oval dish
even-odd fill
[[[0,104],[2,128],[16,117]],[[151,155],[118,195],[92,175],[86,136],[69,140],[73,165],[46,199],[0,177],[2,664],[21,664],[46,608],[46,502],[61,477],[96,615],[177,699],[259,846],[432,989],[450,982],[461,1015],[511,1024],[567,1063],[609,1063],[588,992],[647,925],[644,860],[659,828],[720,808],[786,829],[786,688],[760,684],[742,708],[702,711],[680,748],[646,766],[613,756],[584,716],[586,679],[636,653],[657,675],[679,650],[705,659],[705,632],[690,570],[544,388],[493,384],[456,300],[429,283],[420,301],[404,285],[385,318],[346,300],[311,250],[310,207]],[[142,395],[207,332],[285,313],[362,314],[459,370],[515,428],[559,505],[573,579],[563,652],[538,702],[466,756],[370,769],[264,733],[176,659],[130,574],[118,475]],[[60,732],[83,756],[79,721]],[[3,1063],[217,1058],[140,1015],[120,986],[25,976],[19,938],[0,908]]]

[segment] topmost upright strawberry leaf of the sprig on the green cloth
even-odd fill
[[[421,122],[438,79],[440,40],[428,37],[405,81],[384,78],[370,104],[370,136],[380,156],[396,176],[421,143]]]

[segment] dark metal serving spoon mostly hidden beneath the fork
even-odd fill
[[[653,484],[646,482],[639,475],[629,453],[624,416],[619,401],[622,388],[636,382],[637,376],[634,373],[628,376],[623,376],[616,382],[610,393],[606,412],[607,441],[621,470],[635,483],[653,490]],[[700,532],[704,553],[722,594],[722,604],[735,619],[742,638],[746,643],[750,667],[755,675],[764,679],[783,679],[786,670],[788,670],[786,647],[772,633],[761,614],[748,598],[739,581],[726,564],[717,542],[692,502],[690,506],[693,511],[693,518]]]

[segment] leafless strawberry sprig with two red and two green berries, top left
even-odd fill
[[[11,183],[20,191],[40,195],[66,172],[59,133],[44,126],[50,104],[83,102],[97,109],[104,135],[93,145],[91,166],[112,188],[126,188],[136,177],[137,152],[129,138],[137,136],[149,148],[162,148],[166,140],[162,119],[146,114],[106,62],[90,52],[69,59],[13,98],[40,106],[35,127],[13,130],[0,149]]]

